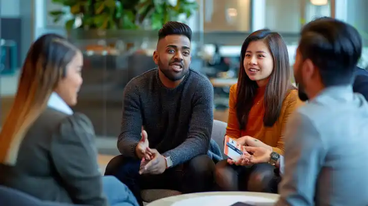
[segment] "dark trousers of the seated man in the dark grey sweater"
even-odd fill
[[[141,205],[143,189],[171,189],[192,193],[211,191],[213,188],[215,164],[207,155],[199,155],[160,175],[140,175],[139,160],[122,156],[114,159],[106,167],[105,175],[114,175],[128,186]]]

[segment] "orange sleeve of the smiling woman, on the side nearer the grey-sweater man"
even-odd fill
[[[241,137],[242,133],[240,131],[237,110],[236,110],[236,96],[237,96],[237,85],[234,84],[230,88],[229,100],[228,100],[228,119],[227,119],[227,127],[226,127],[226,135],[233,138],[238,139]]]

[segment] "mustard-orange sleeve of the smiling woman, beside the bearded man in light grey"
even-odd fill
[[[277,142],[277,146],[272,147],[272,150],[274,152],[279,153],[280,155],[284,155],[285,150],[285,129],[288,121],[290,121],[291,114],[303,104],[303,102],[298,98],[298,90],[292,90],[290,91],[289,95],[286,97],[284,101],[283,107],[285,107],[285,112],[282,117],[281,122],[281,135],[279,137],[279,140]]]

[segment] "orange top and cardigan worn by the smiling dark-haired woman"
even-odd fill
[[[240,130],[236,102],[237,102],[237,84],[230,89],[229,95],[229,114],[227,120],[226,135],[237,139],[242,136],[251,136],[259,139],[263,143],[271,146],[273,151],[280,155],[284,154],[284,133],[285,126],[290,114],[302,103],[298,98],[298,91],[292,90],[288,93],[283,101],[283,106],[280,112],[279,119],[272,127],[265,127],[263,125],[263,96],[265,87],[258,88],[255,96],[255,105],[249,111],[248,123],[245,130]]]

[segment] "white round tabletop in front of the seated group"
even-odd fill
[[[275,203],[278,194],[260,192],[201,192],[170,196],[147,206],[229,206],[236,202]]]

